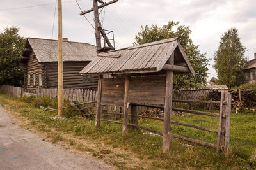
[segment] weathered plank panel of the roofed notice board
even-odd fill
[[[164,104],[166,76],[141,76],[129,80],[129,103]],[[124,106],[124,78],[103,78],[102,104]]]

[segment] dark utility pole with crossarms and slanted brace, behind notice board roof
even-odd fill
[[[101,0],[93,0],[93,8],[80,13],[80,15],[85,15],[86,13],[90,13],[90,12],[94,11],[95,37],[96,37],[96,45],[97,45],[98,53],[108,51],[108,50],[115,50],[115,48],[111,45],[111,43],[108,39],[108,36],[106,35],[106,32],[104,31],[104,29],[102,29],[101,23],[99,22],[99,8],[103,8],[104,6],[108,6],[109,4],[116,3],[117,1],[118,0],[113,0],[113,1],[109,1],[108,3],[104,3]],[[98,3],[101,3],[101,5],[98,6]],[[103,37],[104,42],[106,42],[108,47],[104,46],[102,48],[100,35]]]

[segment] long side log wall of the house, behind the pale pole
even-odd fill
[[[86,82],[83,80],[83,76],[79,72],[89,62],[63,62],[63,84],[64,88],[72,89],[92,89],[97,90],[98,77],[91,76]],[[58,87],[58,62],[47,62],[44,64],[46,75],[47,88]]]

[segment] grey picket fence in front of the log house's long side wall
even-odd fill
[[[52,88],[52,89],[44,89],[44,88],[38,88],[36,89],[36,96],[43,97],[43,96],[49,96],[49,97],[57,97],[58,96],[58,89]],[[63,89],[63,97],[65,99],[69,99],[70,102],[72,101],[96,101],[97,100],[97,91],[95,90],[89,90],[86,89],[83,91],[83,89]]]

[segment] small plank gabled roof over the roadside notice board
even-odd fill
[[[161,71],[174,53],[174,64],[185,64],[195,75],[178,38],[99,53],[81,74],[153,73]]]

